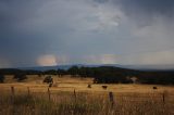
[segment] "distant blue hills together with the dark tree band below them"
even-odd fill
[[[78,67],[76,67],[78,66]],[[123,65],[59,65],[41,67],[22,67],[22,68],[3,68],[0,75],[72,75],[73,77],[92,77],[97,84],[133,84],[136,82],[148,85],[174,85],[174,71],[172,68],[154,68],[146,66],[123,66]],[[59,69],[59,71],[58,71]]]

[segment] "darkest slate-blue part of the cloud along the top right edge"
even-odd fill
[[[114,0],[114,3],[128,13],[162,14],[171,16],[174,14],[174,0]]]

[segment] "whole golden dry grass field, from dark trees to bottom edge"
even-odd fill
[[[5,76],[5,84],[0,84],[0,115],[174,114],[174,86],[94,85],[92,78],[52,76],[49,88],[42,84],[45,77],[33,75],[17,82]]]

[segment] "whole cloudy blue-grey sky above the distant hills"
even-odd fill
[[[174,64],[174,0],[0,0],[0,68]]]

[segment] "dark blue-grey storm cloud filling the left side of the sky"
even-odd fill
[[[36,11],[46,2],[0,0],[0,59],[7,59],[12,66],[28,66],[35,64],[38,52],[47,52],[48,36],[24,25],[37,17]]]

